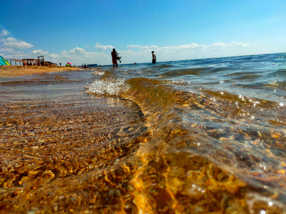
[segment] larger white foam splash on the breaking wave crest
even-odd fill
[[[120,95],[130,89],[130,85],[125,82],[124,78],[108,78],[102,80],[94,80],[92,84],[86,84],[85,93],[97,95]]]

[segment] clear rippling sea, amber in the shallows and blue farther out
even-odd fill
[[[286,213],[286,53],[121,60],[0,78],[0,212]]]

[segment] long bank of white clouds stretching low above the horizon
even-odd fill
[[[7,37],[8,31],[3,30],[0,33],[2,37],[0,39],[0,54],[7,58],[36,58],[39,55],[45,56],[45,60],[52,61],[55,63],[72,62],[74,65],[81,64],[99,64],[109,65],[112,63],[110,51],[114,48],[112,45],[100,45],[96,43],[95,49],[100,50],[98,52],[89,52],[83,48],[75,47],[69,51],[61,51],[61,53],[51,53],[45,50],[33,50],[28,53],[24,51],[16,51],[15,49],[29,49],[33,45],[20,41],[13,37]],[[5,38],[7,37],[7,38]],[[245,53],[246,49],[250,45],[247,43],[240,43],[232,41],[230,43],[217,42],[210,45],[189,43],[185,45],[177,46],[156,46],[156,45],[128,45],[125,48],[118,49],[122,56],[122,64],[128,63],[142,63],[151,62],[152,55],[151,51],[155,51],[157,61],[170,61],[170,60],[189,60],[198,58],[213,58],[222,56],[239,56]],[[89,47],[86,47],[89,48]]]

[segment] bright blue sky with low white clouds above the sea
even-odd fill
[[[0,55],[65,65],[286,51],[286,1],[34,1],[0,8]]]

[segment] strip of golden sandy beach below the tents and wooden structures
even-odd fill
[[[29,74],[37,74],[44,72],[55,72],[63,70],[79,70],[78,67],[65,66],[28,66],[28,65],[0,65],[0,77],[23,76]]]

